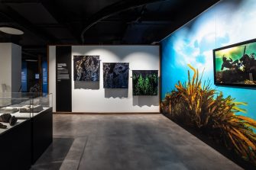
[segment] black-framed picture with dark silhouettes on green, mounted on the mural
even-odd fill
[[[256,40],[213,50],[215,85],[256,86]]]

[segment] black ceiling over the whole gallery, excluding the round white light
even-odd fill
[[[47,53],[48,44],[154,44],[219,0],[0,0],[0,42],[23,55]]]

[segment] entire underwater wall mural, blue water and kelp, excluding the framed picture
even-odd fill
[[[214,85],[212,50],[256,38],[255,9],[254,0],[222,0],[161,41],[162,112],[254,165],[256,88]]]

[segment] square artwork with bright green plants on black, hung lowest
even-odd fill
[[[133,70],[133,95],[157,95],[158,70]]]

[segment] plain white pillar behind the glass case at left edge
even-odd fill
[[[0,92],[18,92],[21,87],[21,47],[0,43]]]

